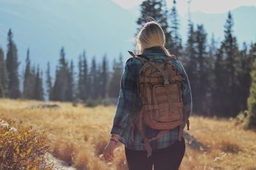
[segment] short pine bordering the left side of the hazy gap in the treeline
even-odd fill
[[[44,100],[44,89],[42,84],[42,73],[40,73],[39,66],[37,67],[36,75],[35,75],[35,87],[33,92],[33,99],[42,101]]]

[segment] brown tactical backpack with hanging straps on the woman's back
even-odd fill
[[[166,59],[147,60],[145,55],[129,53],[143,64],[140,70],[138,85],[138,94],[142,101],[142,108],[136,125],[143,137],[141,142],[147,150],[147,157],[150,157],[152,154],[150,141],[163,137],[170,129],[174,129],[177,126],[180,126],[179,141],[181,141],[184,122],[187,122],[189,130],[189,120],[182,103],[180,87],[180,83],[184,81],[184,78],[180,76],[177,67],[171,61],[171,59],[177,59],[175,55],[171,55]],[[157,62],[159,60],[163,62]],[[142,121],[148,127],[161,131],[154,138],[146,138]],[[132,124],[132,126],[134,125]]]

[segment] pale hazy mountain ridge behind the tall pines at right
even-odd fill
[[[241,6],[231,11],[234,18],[234,34],[237,36],[239,45],[244,41],[251,43],[256,41],[256,7]],[[208,34],[208,39],[211,39],[212,33],[220,42],[224,37],[224,24],[227,19],[227,13],[207,14],[201,11],[191,13],[191,20],[195,24],[204,24]],[[188,14],[180,17],[180,34],[182,39],[186,39],[188,25]]]

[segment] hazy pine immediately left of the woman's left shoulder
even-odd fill
[[[117,98],[119,96],[120,80],[121,80],[122,72],[124,69],[123,65],[124,65],[123,57],[122,57],[122,54],[120,54],[118,62],[116,62],[115,59],[113,60],[113,74],[109,82],[109,90],[108,90],[109,97]]]

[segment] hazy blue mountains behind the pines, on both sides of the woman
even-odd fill
[[[124,10],[111,0],[0,0],[0,46],[6,52],[8,29],[12,29],[19,50],[19,60],[24,67],[26,50],[30,49],[31,61],[45,70],[51,62],[54,74],[61,46],[67,59],[75,64],[80,53],[86,50],[88,61],[95,55],[97,62],[107,53],[111,62],[119,53],[125,59],[132,50],[139,6]],[[239,43],[256,40],[256,7],[242,6],[232,11],[234,33]],[[211,38],[221,41],[227,13],[191,13],[195,24],[204,24]],[[180,34],[186,41],[188,15],[180,17]]]

